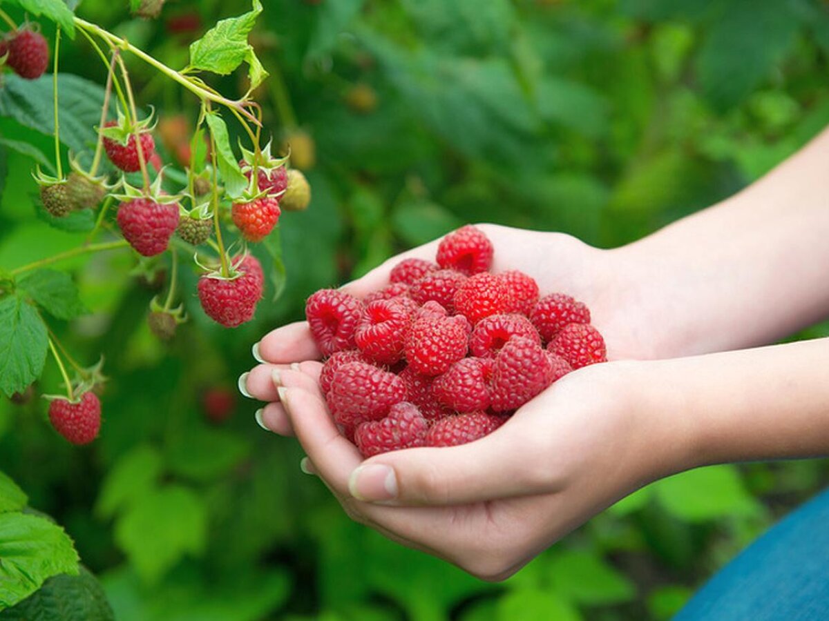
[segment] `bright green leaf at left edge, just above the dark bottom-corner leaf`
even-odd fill
[[[25,513],[0,513],[0,559],[0,610],[52,575],[78,573],[78,553],[63,528]]]

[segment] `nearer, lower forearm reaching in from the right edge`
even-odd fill
[[[633,365],[664,470],[829,455],[829,339]]]

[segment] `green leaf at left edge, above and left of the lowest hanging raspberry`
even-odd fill
[[[11,397],[40,377],[46,363],[46,324],[20,296],[0,299],[0,390]]]

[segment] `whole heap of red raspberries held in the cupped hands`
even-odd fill
[[[540,299],[525,273],[492,274],[492,254],[468,225],[441,241],[437,262],[401,261],[362,301],[334,289],[308,298],[322,392],[365,457],[478,440],[566,373],[607,360],[587,306]]]

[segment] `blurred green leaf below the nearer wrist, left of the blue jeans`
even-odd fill
[[[579,604],[622,604],[636,597],[633,582],[596,554],[561,551],[550,559],[549,570],[556,592]]]

